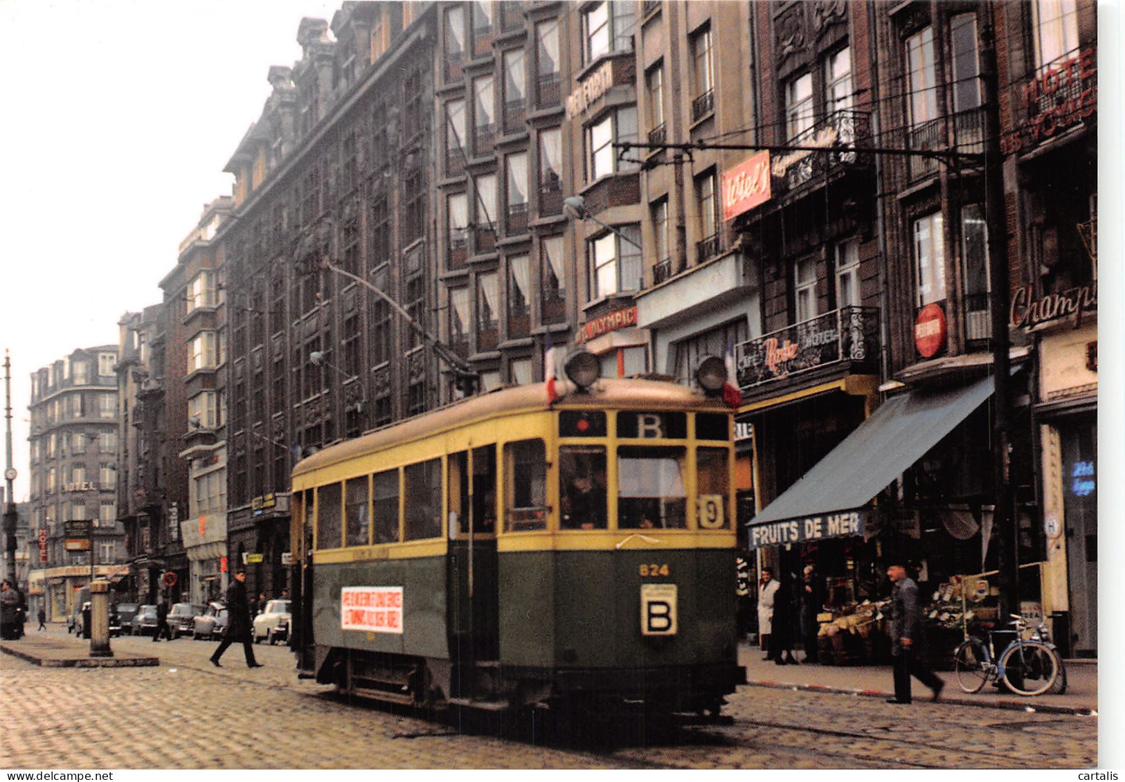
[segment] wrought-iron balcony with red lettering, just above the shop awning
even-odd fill
[[[879,309],[842,307],[735,347],[738,385],[745,390],[773,380],[847,365],[879,371]]]

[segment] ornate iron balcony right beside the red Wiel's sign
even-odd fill
[[[775,195],[850,167],[868,164],[871,153],[850,150],[871,144],[871,117],[864,111],[835,111],[790,140],[789,144],[831,151],[802,150],[776,158],[772,164]]]

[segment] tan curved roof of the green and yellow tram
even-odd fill
[[[591,393],[572,392],[554,405],[547,402],[546,386],[542,383],[534,383],[460,399],[444,407],[372,430],[358,438],[327,446],[298,461],[292,471],[294,475],[309,473],[380,448],[410,442],[506,413],[573,407],[644,410],[668,405],[684,410],[730,412],[730,408],[719,399],[705,397],[686,386],[666,380],[602,378]]]

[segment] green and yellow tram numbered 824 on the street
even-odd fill
[[[717,716],[737,664],[734,419],[699,389],[600,378],[470,397],[292,474],[304,677],[426,709],[642,702]]]

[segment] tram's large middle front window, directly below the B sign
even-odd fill
[[[687,525],[684,471],[687,449],[622,446],[618,449],[618,527]]]

